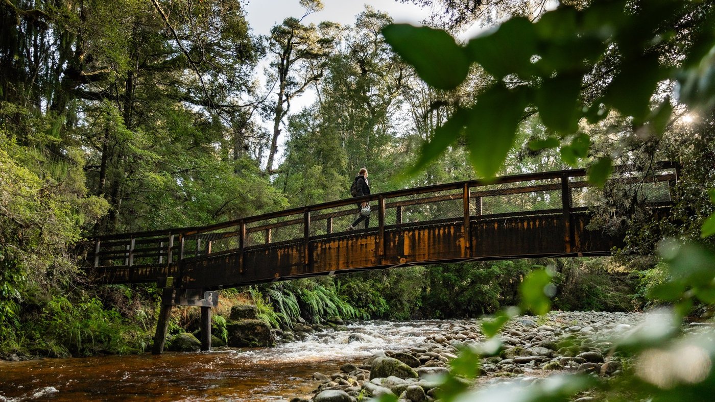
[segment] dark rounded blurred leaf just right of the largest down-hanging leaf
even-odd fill
[[[576,101],[581,92],[580,74],[559,74],[545,79],[536,91],[536,107],[544,126],[568,134],[578,129]]]

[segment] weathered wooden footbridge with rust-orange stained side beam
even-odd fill
[[[94,283],[164,288],[154,353],[161,353],[172,305],[202,307],[202,348],[220,288],[375,268],[506,258],[606,256],[623,238],[591,229],[602,191],[573,169],[390,191],[193,228],[92,238]],[[676,166],[647,176],[616,169],[624,190],[654,219],[666,216]],[[348,231],[368,201],[368,228]],[[622,235],[621,235],[622,236]]]

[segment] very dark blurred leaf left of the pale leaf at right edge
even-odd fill
[[[604,101],[625,116],[633,116],[636,122],[645,121],[656,85],[667,76],[664,72],[656,54],[623,60]]]

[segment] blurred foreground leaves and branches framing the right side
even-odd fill
[[[464,20],[453,16],[450,14],[448,21]],[[456,71],[455,80],[435,79],[429,67],[425,71],[430,58],[440,61],[444,58],[453,64],[475,61],[500,81],[480,93],[475,106],[460,109],[435,131],[420,163],[433,159],[463,135],[473,141],[472,155],[482,155],[478,147],[485,148],[493,141],[483,135],[484,128],[475,130],[475,122],[486,124],[488,129],[503,136],[503,142],[493,147],[496,153],[508,151],[518,132],[515,120],[520,119],[526,106],[531,104],[538,110],[544,126],[554,134],[533,141],[531,148],[554,148],[561,144],[564,162],[574,164],[579,159],[591,159],[589,176],[593,182],[605,184],[603,179],[611,174],[613,154],[598,155],[602,144],[591,142],[593,137],[578,126],[582,118],[593,124],[616,116],[621,126],[611,126],[612,132],[620,129],[631,131],[632,135],[619,138],[622,147],[613,153],[626,156],[626,160],[636,164],[642,164],[642,157],[646,155],[649,161],[646,171],[658,156],[679,156],[684,167],[679,171],[681,179],[693,175],[681,180],[673,191],[674,216],[659,223],[644,225],[638,221],[638,210],[642,208],[638,206],[640,186],[626,189],[606,186],[604,189],[607,202],[601,212],[611,213],[611,219],[600,221],[604,230],[618,230],[619,223],[631,226],[627,238],[630,251],[650,251],[659,241],[659,255],[664,263],[640,273],[638,293],[655,303],[671,304],[660,316],[652,318],[654,321],[649,326],[609,340],[613,341],[610,353],[618,353],[635,363],[627,368],[626,376],[614,381],[596,376],[553,376],[528,388],[528,392],[516,384],[475,392],[465,385],[468,381],[458,381],[459,377],[471,379],[477,375],[474,366],[479,365],[481,356],[498,353],[501,346],[498,330],[511,316],[520,311],[548,312],[550,298],[556,294],[555,283],[559,283],[552,267],[528,274],[520,286],[519,308],[506,308],[483,322],[483,332],[493,337],[493,341],[481,348],[467,348],[453,361],[452,372],[440,386],[443,389],[440,399],[568,401],[590,389],[605,400],[696,401],[715,390],[715,371],[711,367],[715,357],[712,332],[688,333],[681,326],[684,316],[692,313],[697,304],[706,311],[701,318],[710,318],[715,303],[715,254],[711,243],[715,234],[715,213],[711,205],[715,203],[715,191],[708,190],[713,186],[714,170],[709,163],[711,153],[703,152],[712,143],[714,22],[713,9],[706,1],[593,1],[580,10],[559,7],[533,22],[514,17],[501,24],[497,31],[472,39],[465,47],[447,44],[443,31],[410,26],[385,29],[395,49],[415,65],[425,81],[437,88],[445,87],[445,83],[460,84],[465,77],[457,68],[451,69]],[[529,32],[536,35],[528,35],[527,41],[515,40]],[[434,49],[430,48],[432,44],[441,44],[448,49],[416,54],[414,46],[405,46],[412,40],[422,48]],[[506,46],[516,49],[509,55],[513,58],[510,64],[504,63],[508,58],[501,59],[495,54]],[[460,52],[467,56],[460,60],[455,56]],[[604,70],[604,66],[608,69]],[[505,79],[510,75],[521,80],[510,83]],[[598,80],[601,84],[593,91],[591,83]],[[676,91],[671,92],[673,88]],[[674,97],[669,98],[669,94]],[[508,111],[498,112],[499,108]],[[603,113],[594,116],[594,108]],[[574,114],[563,113],[572,109]],[[675,109],[680,109],[681,115],[671,120]],[[489,112],[503,119],[490,119]],[[691,114],[699,116],[701,123],[679,127],[694,119]],[[684,116],[688,119],[680,121]],[[701,139],[704,142],[701,143]],[[671,144],[682,147],[674,148]],[[486,161],[473,158],[473,165],[490,175],[504,160],[502,156]],[[697,189],[695,181],[700,184]],[[664,236],[674,237],[663,241]],[[601,286],[598,289],[603,290]],[[686,350],[697,351],[697,356],[684,354]],[[680,377],[669,364],[676,359],[682,359],[685,370],[697,373],[696,377]]]

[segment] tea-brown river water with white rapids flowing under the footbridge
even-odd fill
[[[414,346],[449,324],[365,322],[275,348],[0,361],[0,402],[287,401],[312,395],[315,371]]]

